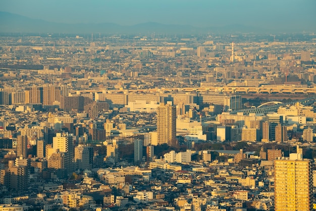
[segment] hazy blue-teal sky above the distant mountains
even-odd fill
[[[0,11],[59,23],[316,29],[316,0],[1,0]]]

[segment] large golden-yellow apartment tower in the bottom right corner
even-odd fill
[[[275,211],[312,210],[312,166],[301,153],[274,161]]]

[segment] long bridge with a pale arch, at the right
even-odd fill
[[[281,106],[286,106],[286,107],[290,107],[290,105],[294,105],[295,103],[300,103],[302,105],[311,105],[312,103],[314,103],[315,101],[315,97],[308,97],[305,99],[300,99],[300,100],[293,100],[291,102],[287,102],[287,103],[283,103],[283,102],[278,102],[278,101],[272,101],[272,102],[266,102],[264,104],[259,105],[257,108],[249,108],[249,109],[239,109],[239,110],[235,110],[230,112],[230,114],[237,114],[242,112],[244,115],[248,115],[251,113],[254,114],[267,114],[269,112],[277,112],[278,109]],[[268,105],[270,103],[274,103],[273,105]]]

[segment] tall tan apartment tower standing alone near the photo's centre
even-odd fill
[[[171,104],[157,108],[157,143],[176,144],[176,107]]]

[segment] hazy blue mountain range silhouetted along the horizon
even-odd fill
[[[37,20],[20,16],[17,14],[0,12],[0,33],[22,32],[22,33],[261,33],[267,30],[244,25],[229,25],[224,27],[194,27],[190,25],[169,25],[155,22],[136,24],[133,26],[121,26],[114,23],[100,24],[64,24],[44,20]]]

